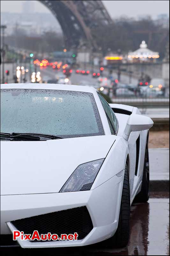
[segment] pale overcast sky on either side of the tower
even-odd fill
[[[49,12],[43,4],[39,1],[30,0],[34,5],[35,12]],[[13,0],[1,0],[1,12],[22,12],[23,0],[13,1]],[[111,17],[138,17],[141,15],[151,15],[156,18],[157,15],[166,13],[169,15],[169,1],[145,1],[145,0],[119,0],[103,1],[110,13]]]

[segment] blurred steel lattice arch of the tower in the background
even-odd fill
[[[102,1],[39,1],[56,17],[63,30],[66,46],[78,47],[81,40],[86,40],[97,49],[97,38],[94,29],[111,24],[110,18]]]

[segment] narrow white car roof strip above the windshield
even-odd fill
[[[66,85],[66,84],[1,84],[1,89],[45,89],[45,90],[63,90],[75,92],[91,92],[97,90],[92,86]]]

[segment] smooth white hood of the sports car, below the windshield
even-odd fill
[[[57,193],[78,165],[105,158],[115,139],[1,141],[1,195]]]

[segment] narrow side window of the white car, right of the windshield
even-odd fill
[[[116,131],[117,131],[117,127],[118,127],[115,113],[112,110],[112,108],[110,108],[110,106],[107,103],[107,101],[100,95],[100,93],[98,95],[99,95],[100,101],[102,103],[102,106],[103,106],[103,108],[105,110],[111,134],[115,134]]]

